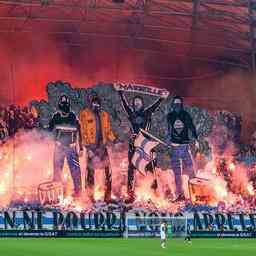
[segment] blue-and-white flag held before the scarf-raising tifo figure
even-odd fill
[[[138,171],[146,171],[146,166],[154,160],[151,151],[158,144],[160,143],[150,134],[140,131],[134,142],[135,152],[132,157],[132,164]]]

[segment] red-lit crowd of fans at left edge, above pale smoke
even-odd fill
[[[19,129],[37,127],[38,118],[32,108],[10,105],[0,106],[0,142],[13,137]]]

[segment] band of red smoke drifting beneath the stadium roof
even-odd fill
[[[0,34],[0,102],[4,104],[46,98],[49,81],[64,80],[84,88],[99,81],[143,82],[185,96],[188,104],[238,112],[244,119],[245,138],[254,130],[255,79],[248,74],[236,70],[227,73],[216,65],[192,62],[189,56],[177,57],[175,54],[186,51],[183,45],[159,54],[134,49],[150,48],[147,41],[141,45],[142,41],[106,37],[85,40],[79,35],[72,35],[70,40],[38,30],[37,34]],[[70,45],[70,41],[78,44]],[[164,45],[159,44],[159,48]],[[214,54],[220,52],[210,55]],[[186,79],[189,77],[196,80]]]

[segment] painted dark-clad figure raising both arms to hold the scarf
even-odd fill
[[[163,98],[156,100],[151,106],[145,108],[143,98],[140,96],[135,96],[133,98],[132,106],[129,106],[125,96],[122,91],[119,91],[123,108],[128,116],[128,120],[131,124],[132,137],[129,140],[129,150],[128,150],[128,196],[129,201],[134,200],[134,176],[135,167],[132,164],[132,157],[135,152],[134,140],[140,129],[148,131],[151,127],[151,118],[156,109],[160,106]]]

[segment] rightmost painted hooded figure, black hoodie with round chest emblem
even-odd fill
[[[195,177],[193,161],[190,152],[189,132],[197,140],[196,128],[190,114],[183,108],[183,99],[174,97],[171,111],[167,115],[168,140],[171,143],[171,167],[175,174],[177,200],[184,200],[182,187],[182,174],[187,174],[189,179]]]

